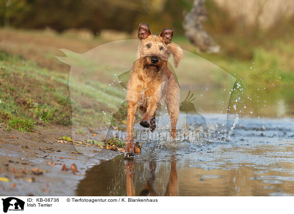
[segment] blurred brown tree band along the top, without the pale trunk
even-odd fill
[[[203,0],[201,0],[203,1]],[[163,26],[184,34],[184,17],[194,0],[0,0],[0,26],[50,27],[59,32],[88,28],[93,33],[115,29],[131,33],[141,22],[160,32]],[[294,14],[293,0],[206,0],[206,27],[268,30]],[[211,29],[210,29],[211,30]]]

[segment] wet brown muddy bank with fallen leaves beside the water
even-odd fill
[[[6,131],[0,123],[0,195],[74,195],[85,171],[117,152],[95,146],[75,146],[57,139],[71,136],[70,127],[39,126],[33,133]],[[87,137],[87,136],[83,136]],[[78,172],[70,169],[76,165]],[[63,164],[68,171],[62,171]]]

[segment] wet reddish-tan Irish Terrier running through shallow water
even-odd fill
[[[127,84],[127,136],[125,156],[134,155],[133,127],[138,107],[145,113],[140,125],[154,131],[155,111],[167,103],[172,125],[172,138],[176,137],[179,116],[179,85],[168,68],[168,58],[173,55],[175,67],[183,58],[182,49],[171,43],[173,30],[164,28],[159,36],[153,35],[147,24],[141,23],[138,37],[141,40],[130,80]]]

